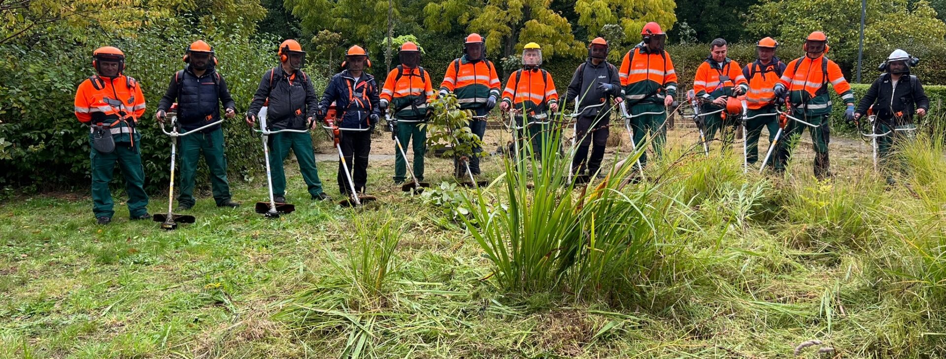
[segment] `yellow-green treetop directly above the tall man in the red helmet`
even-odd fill
[[[607,25],[620,25],[624,39],[639,41],[640,29],[649,22],[657,22],[664,31],[674,27],[676,15],[674,0],[578,0],[575,13],[578,25],[588,29],[603,29]],[[598,37],[588,34],[587,40]],[[620,43],[619,43],[620,44]]]

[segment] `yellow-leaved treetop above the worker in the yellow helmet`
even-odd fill
[[[542,56],[581,58],[585,45],[575,41],[571,24],[549,9],[552,0],[489,0],[469,30],[486,37],[486,49],[501,57],[517,54],[518,43],[538,43]]]

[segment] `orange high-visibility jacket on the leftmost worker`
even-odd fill
[[[145,114],[145,94],[134,78],[89,77],[76,92],[76,118],[112,127],[115,143],[133,143],[134,126]]]

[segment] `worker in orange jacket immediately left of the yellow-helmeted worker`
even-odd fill
[[[499,85],[496,65],[486,60],[486,41],[480,34],[472,33],[464,38],[464,55],[447,65],[439,94],[456,94],[460,109],[473,112],[476,117],[470,121],[469,128],[482,140],[486,133],[486,114],[496,107],[499,99]],[[468,163],[459,157],[454,160],[454,176],[465,176],[466,165],[471,174],[479,176],[480,152],[482,147],[475,146],[473,153],[468,154]]]

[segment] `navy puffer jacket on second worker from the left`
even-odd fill
[[[158,103],[158,110],[168,111],[175,101],[178,103],[178,123],[184,130],[200,128],[218,121],[221,102],[223,108],[236,111],[234,99],[227,90],[227,82],[213,67],[207,69],[201,77],[194,75],[190,65],[184,68],[184,71],[174,73],[165,95]],[[207,128],[204,132],[217,128],[219,126]]]

